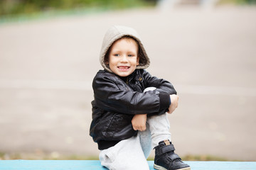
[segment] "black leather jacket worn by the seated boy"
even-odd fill
[[[149,86],[156,90],[143,93]],[[136,69],[129,77],[100,70],[92,88],[95,100],[92,101],[90,136],[99,149],[107,149],[137,135],[132,128],[133,116],[165,113],[171,103],[169,95],[176,94],[169,81],[151,77],[144,69]]]

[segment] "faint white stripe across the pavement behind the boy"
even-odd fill
[[[178,94],[256,96],[256,88],[238,86],[175,85]],[[0,89],[67,89],[92,90],[92,81],[0,79]]]

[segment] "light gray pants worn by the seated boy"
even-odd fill
[[[154,90],[147,88],[145,91]],[[102,166],[110,170],[149,170],[146,158],[162,140],[171,141],[170,123],[167,114],[154,115],[146,120],[146,130],[138,135],[118,142],[114,147],[100,152]]]

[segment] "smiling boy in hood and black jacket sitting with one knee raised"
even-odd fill
[[[155,149],[155,169],[190,167],[174,153],[167,113],[178,106],[169,81],[151,77],[142,41],[137,32],[113,26],[105,34],[100,52],[104,70],[92,82],[90,135],[100,149],[107,169],[149,169],[146,158]]]

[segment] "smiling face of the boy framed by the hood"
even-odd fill
[[[107,64],[119,77],[132,74],[139,65],[138,45],[132,38],[123,38],[113,43]]]

